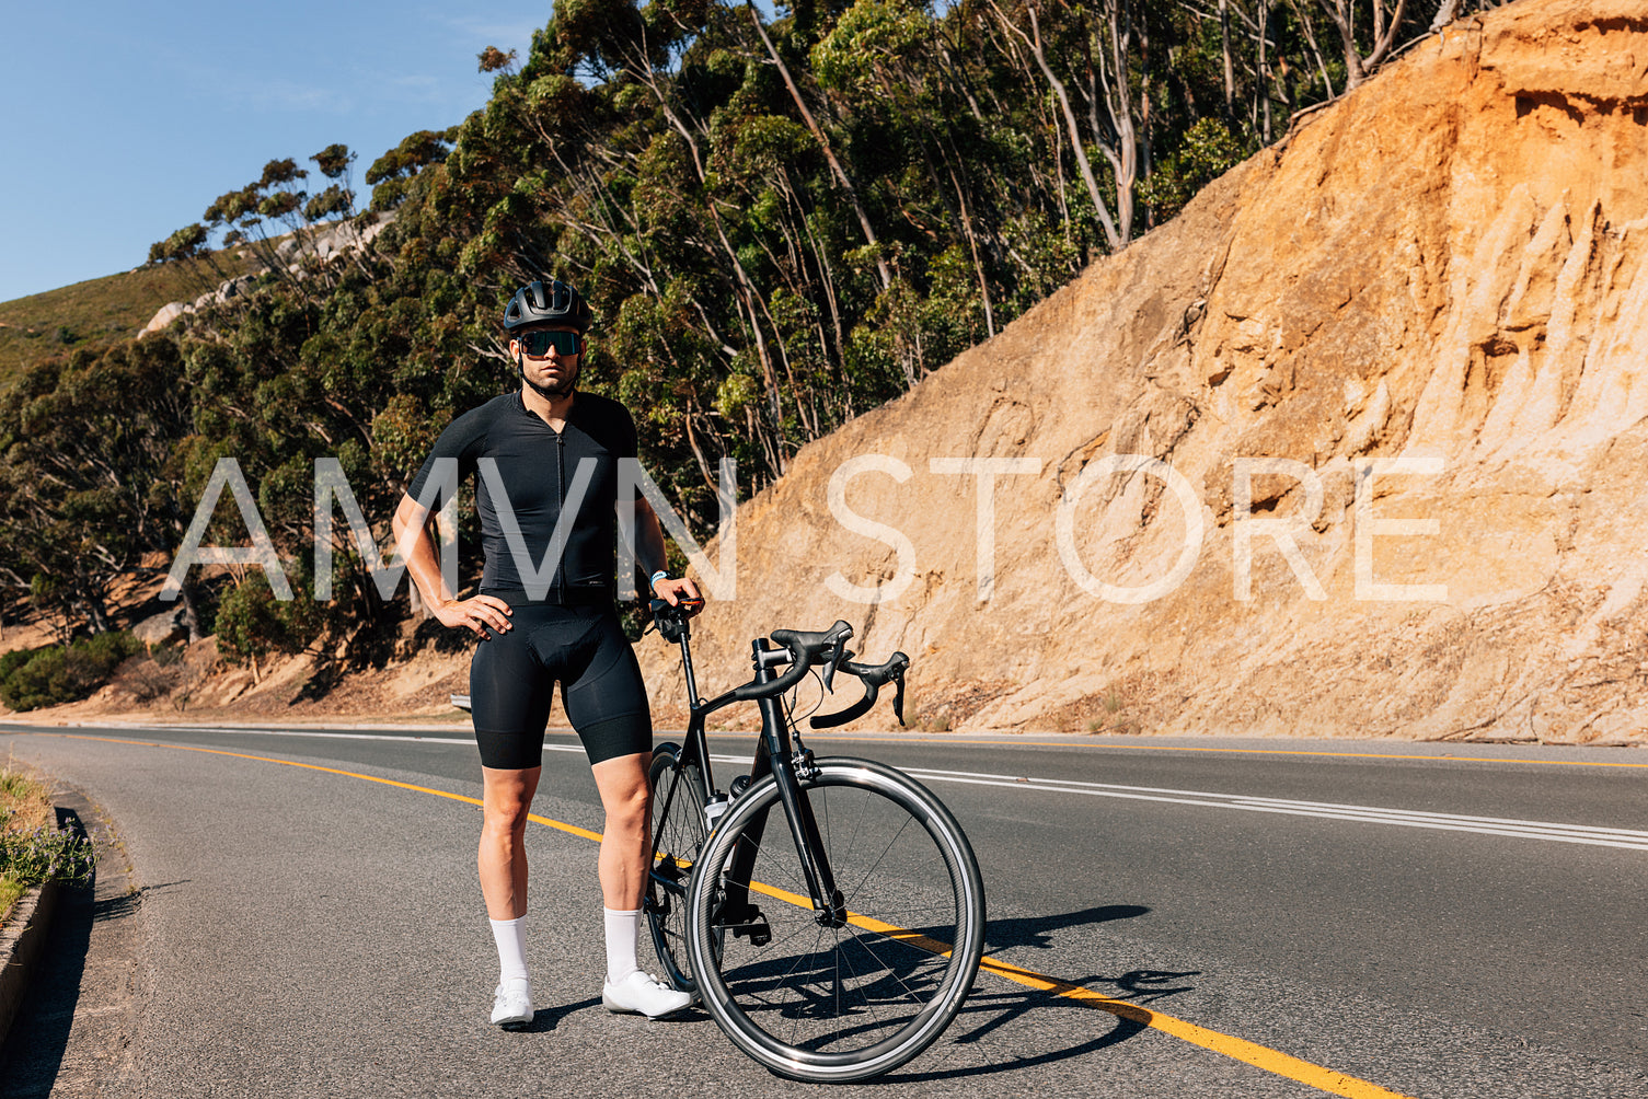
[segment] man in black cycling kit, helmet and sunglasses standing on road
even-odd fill
[[[636,455],[636,433],[621,404],[577,390],[588,326],[590,308],[574,287],[559,280],[521,287],[504,308],[521,389],[453,420],[394,516],[397,539],[415,531],[407,567],[425,605],[443,624],[478,638],[470,705],[483,778],[478,870],[501,970],[496,1025],[532,1018],[522,839],[557,682],[606,814],[598,858],[606,926],[602,1003],[651,1018],[691,1002],[636,964],[651,853],[653,720],[641,669],[618,624],[613,565],[618,460]],[[480,592],[466,600],[445,588],[430,512],[417,504],[437,458],[456,458],[460,476],[476,478],[485,568]],[[634,519],[636,559],[653,593],[671,605],[697,600],[697,585],[666,572],[664,534],[644,499],[636,499]],[[562,539],[549,590],[532,598],[529,578],[541,583],[541,562]]]

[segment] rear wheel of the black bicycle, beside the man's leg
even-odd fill
[[[687,885],[704,847],[704,773],[681,763],[681,746],[653,750],[646,773],[653,791],[653,858],[641,908],[653,933],[653,949],[664,979],[681,992],[697,992],[687,962]]]

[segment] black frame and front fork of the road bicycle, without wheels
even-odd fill
[[[709,702],[699,699],[697,680],[692,674],[692,648],[689,644],[691,629],[682,624],[681,631],[681,666],[687,679],[687,743],[681,750],[681,763],[697,763],[704,776],[705,802],[722,794],[715,786],[710,769],[709,741],[704,733],[705,718],[733,702],[740,702],[737,690],[728,690]],[[755,666],[755,682],[768,684],[775,679],[773,669],[789,662],[786,649],[768,646],[766,638],[751,643]],[[836,888],[836,875],[831,872],[829,858],[824,852],[824,840],[819,834],[817,819],[812,816],[812,804],[808,801],[806,788],[801,784],[796,765],[811,765],[811,753],[796,751],[789,738],[789,723],[784,720],[781,702],[776,695],[756,699],[761,710],[761,738],[756,741],[755,760],[750,768],[751,778],[763,773],[773,776],[778,784],[778,799],[784,807],[784,819],[789,822],[789,837],[801,857],[801,868],[808,880],[808,891],[812,895],[812,911],[819,923],[832,928],[847,923],[847,908],[840,890]],[[671,794],[674,796],[674,789]],[[667,809],[667,807],[666,807]],[[750,890],[750,870],[755,853],[766,829],[765,814],[751,821],[740,837],[738,850],[733,852],[725,875],[727,901],[725,911],[738,911],[745,906]],[[735,921],[737,923],[737,921]]]

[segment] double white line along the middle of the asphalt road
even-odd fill
[[[198,733],[244,733],[260,737],[320,737],[331,740],[412,740],[427,745],[473,745],[470,737],[417,737],[394,733],[302,733],[272,728],[201,728]],[[544,751],[582,753],[580,745],[544,745]],[[750,756],[710,755],[714,763],[747,765]],[[1365,824],[1396,824],[1439,832],[1475,832],[1480,835],[1508,835],[1513,839],[1549,840],[1556,844],[1584,844],[1590,847],[1620,847],[1648,850],[1648,832],[1636,829],[1612,829],[1590,824],[1559,824],[1552,821],[1519,821],[1513,817],[1473,817],[1422,809],[1386,809],[1381,806],[1351,806],[1333,801],[1294,801],[1261,794],[1215,794],[1200,789],[1172,789],[1162,786],[1119,786],[1114,783],[1083,783],[1076,779],[1046,779],[1017,774],[989,774],[977,771],[939,771],[933,768],[905,768],[911,776],[928,783],[961,783],[966,786],[1000,786],[1046,794],[1086,794],[1091,797],[1121,797],[1126,801],[1160,801],[1180,806],[1206,806],[1210,809],[1243,809],[1248,812],[1274,812],[1290,817],[1317,817],[1322,821],[1361,821]]]

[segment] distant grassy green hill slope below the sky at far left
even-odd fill
[[[234,252],[218,252],[224,277],[254,267]],[[23,371],[77,348],[102,351],[130,339],[166,302],[193,302],[216,290],[221,278],[201,264],[140,267],[120,275],[87,278],[69,287],[0,302],[0,387]]]

